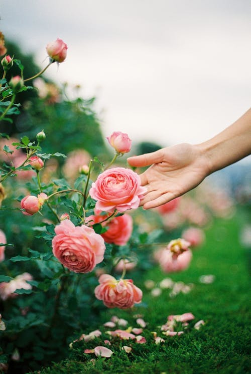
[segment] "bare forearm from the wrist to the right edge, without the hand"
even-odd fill
[[[251,153],[251,109],[213,138],[198,145],[209,164],[209,174]]]

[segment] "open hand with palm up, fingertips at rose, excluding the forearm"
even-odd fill
[[[210,172],[199,145],[178,144],[128,158],[131,166],[151,165],[140,174],[147,193],[144,209],[156,208],[195,188]]]

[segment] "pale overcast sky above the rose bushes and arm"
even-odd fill
[[[1,31],[47,76],[97,96],[105,136],[198,143],[250,107],[250,0],[2,0]]]

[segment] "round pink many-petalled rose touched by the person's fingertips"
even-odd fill
[[[98,175],[92,183],[90,196],[97,200],[96,208],[104,212],[125,212],[136,209],[147,191],[141,187],[140,176],[131,169],[114,167]]]

